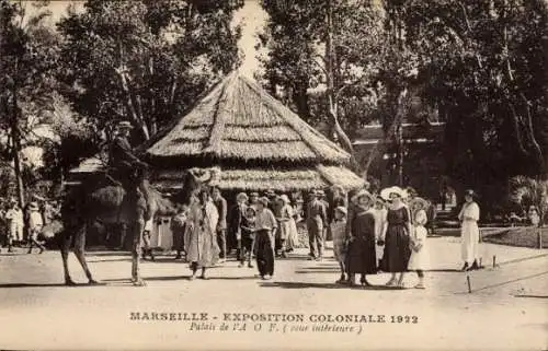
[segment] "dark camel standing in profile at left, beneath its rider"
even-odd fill
[[[178,198],[183,203],[189,203],[192,194],[214,178],[215,172],[212,169],[190,169],[186,172],[183,182],[183,189],[178,194]],[[89,284],[99,284],[85,261],[85,235],[94,225],[117,224],[128,231],[133,237],[132,245],[132,283],[135,286],[146,285],[145,280],[139,274],[140,238],[145,222],[153,218],[155,214],[169,215],[175,212],[175,208],[170,200],[163,198],[161,194],[153,189],[145,175],[139,169],[135,169],[132,185],[128,190],[119,184],[112,184],[106,180],[109,177],[94,177],[88,179],[82,185],[73,189],[67,189],[61,208],[61,217],[65,230],[60,233],[60,251],[62,267],[65,270],[65,284],[76,285],[70,277],[68,267],[68,255],[73,241],[73,251],[78,261],[82,266]],[[138,185],[145,182],[149,199],[140,196]],[[110,183],[110,184],[109,184]]]

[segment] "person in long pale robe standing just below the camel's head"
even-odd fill
[[[198,197],[193,197],[189,209],[186,224],[185,250],[191,264],[191,280],[196,278],[198,268],[202,268],[199,278],[207,279],[207,268],[215,266],[219,259],[216,229],[219,214],[212,201],[209,190],[204,189]]]

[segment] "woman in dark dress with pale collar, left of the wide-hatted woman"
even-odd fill
[[[377,273],[377,256],[375,253],[375,212],[372,209],[374,198],[362,190],[353,198],[356,204],[352,219],[351,237],[346,258],[349,281],[353,285],[355,276],[361,274],[362,285],[369,285],[367,274]]]

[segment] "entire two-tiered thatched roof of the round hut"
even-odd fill
[[[183,169],[220,167],[222,190],[361,187],[345,167],[350,154],[253,81],[231,73],[184,117],[140,148],[165,190],[182,187]]]

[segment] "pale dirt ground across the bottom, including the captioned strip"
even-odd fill
[[[189,281],[187,265],[163,256],[142,262],[146,288],[129,285],[127,255],[91,253],[90,268],[105,284],[66,288],[58,253],[3,250],[0,349],[548,348],[548,250],[482,244],[486,268],[465,273],[458,271],[458,238],[431,238],[429,246],[432,270],[426,290],[388,290],[380,286],[387,274],[369,277],[377,284],[369,289],[336,285],[336,262],[308,261],[306,250],[276,260],[271,281],[259,280],[255,269],[238,268],[236,261],[210,269],[207,281]],[[500,265],[495,268],[493,256]],[[70,267],[73,279],[85,282],[72,256]],[[409,273],[407,285],[415,280]],[[152,313],[164,312],[204,313],[207,321],[151,320]],[[141,320],[132,320],[132,313],[140,313]],[[249,314],[248,318],[290,314],[304,321],[235,321],[232,313]],[[347,314],[370,317],[336,321],[338,315]],[[335,320],[329,321],[328,315]],[[225,327],[228,330],[221,330]]]

